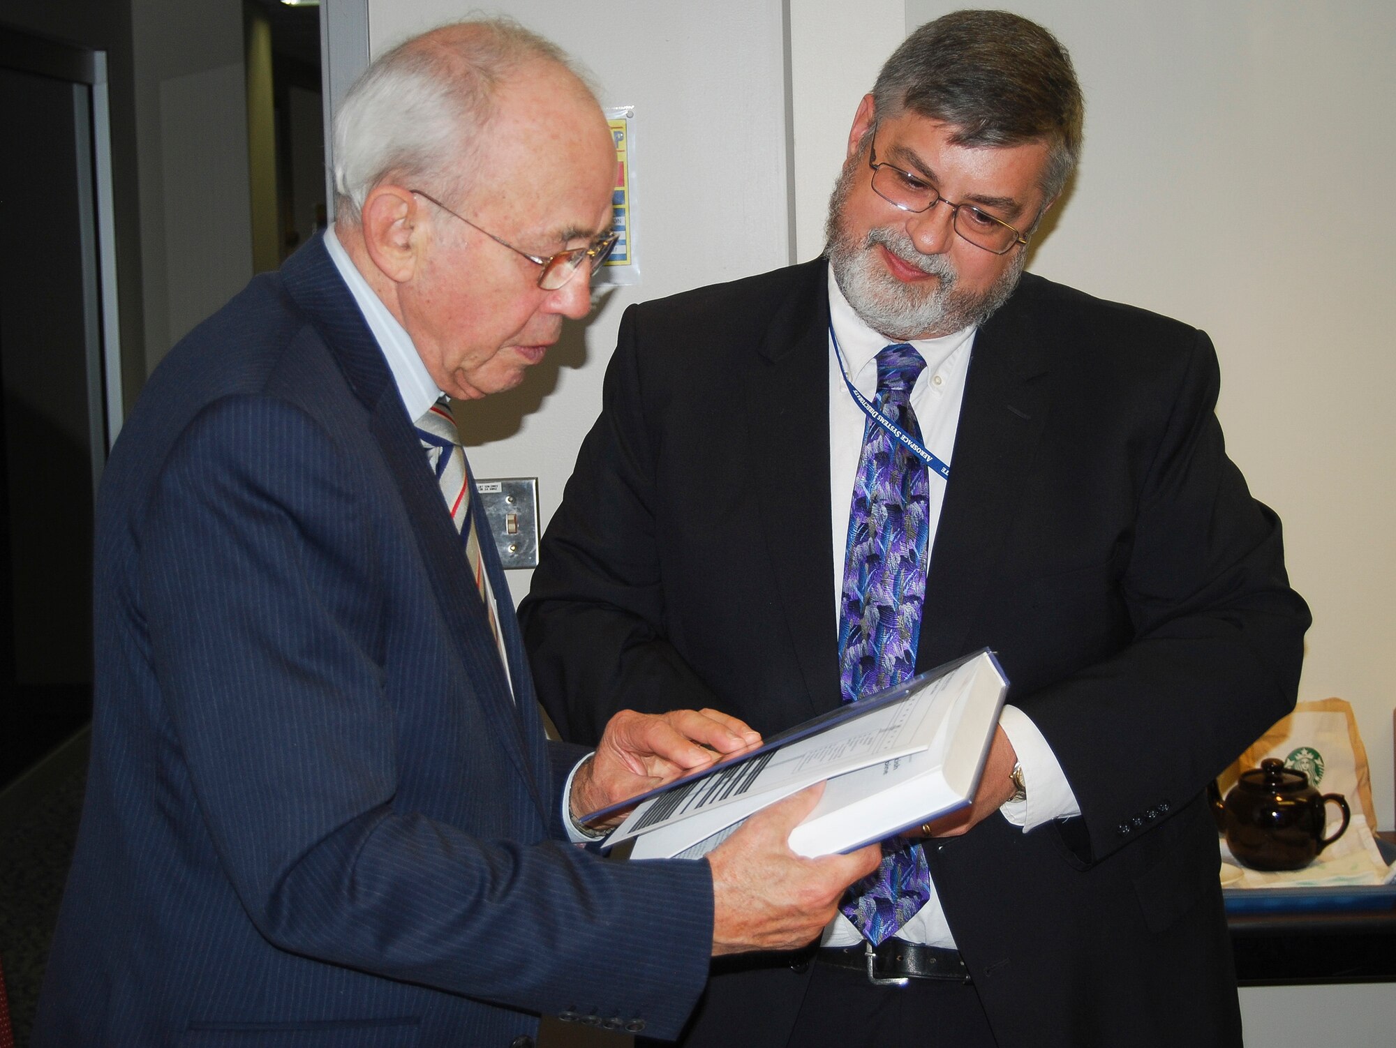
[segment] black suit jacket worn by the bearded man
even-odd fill
[[[627,313],[522,608],[564,737],[617,706],[771,733],[838,705],[825,272]],[[1202,791],[1293,705],[1308,611],[1216,392],[1202,332],[1030,275],[974,343],[919,667],[993,647],[1082,808],[928,848],[1005,1047],[1240,1041]],[[778,1042],[803,980],[718,978],[699,1031]]]

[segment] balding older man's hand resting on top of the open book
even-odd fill
[[[759,744],[761,735],[744,721],[713,709],[660,714],[621,710],[606,724],[596,756],[572,776],[572,816],[618,804]],[[616,816],[607,825],[618,821]]]

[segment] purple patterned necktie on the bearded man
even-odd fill
[[[882,414],[916,440],[912,387],[926,361],[906,343],[877,356]],[[839,685],[856,702],[916,673],[916,643],[926,597],[928,480],[921,465],[872,419],[853,479],[843,596],[839,603]],[[849,888],[840,910],[874,946],[906,924],[931,897],[920,844],[882,841],[882,865]]]

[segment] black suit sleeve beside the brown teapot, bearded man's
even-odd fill
[[[1118,582],[1128,643],[1020,696],[1082,807],[1097,861],[1192,801],[1293,709],[1309,624],[1280,522],[1227,458],[1216,354],[1194,332]]]

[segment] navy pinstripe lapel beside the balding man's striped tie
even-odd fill
[[[329,260],[324,241],[317,237],[297,251],[282,267],[282,279],[290,297],[307,314],[339,361],[355,395],[369,410],[369,431],[383,452],[388,473],[402,497],[408,521],[416,533],[431,578],[437,607],[463,664],[469,668],[470,678],[463,684],[489,713],[490,724],[498,734],[504,751],[518,766],[524,781],[528,783],[546,823],[550,816],[533,769],[547,765],[540,749],[537,754],[529,752],[542,747],[542,741],[530,748],[524,734],[524,721],[528,720],[525,708],[533,701],[533,691],[528,667],[519,654],[522,649],[518,645],[518,627],[512,622],[514,606],[508,597],[489,526],[482,530],[480,540],[482,548],[486,550],[486,565],[500,606],[500,618],[510,620],[505,629],[507,647],[510,636],[514,638],[510,666],[517,698],[510,692],[484,606],[466,568],[461,536],[441,500],[441,491],[427,466],[413,423],[402,406],[402,398],[398,395],[383,350]],[[477,514],[476,519],[483,523],[484,509],[473,491],[470,497],[472,512]]]

